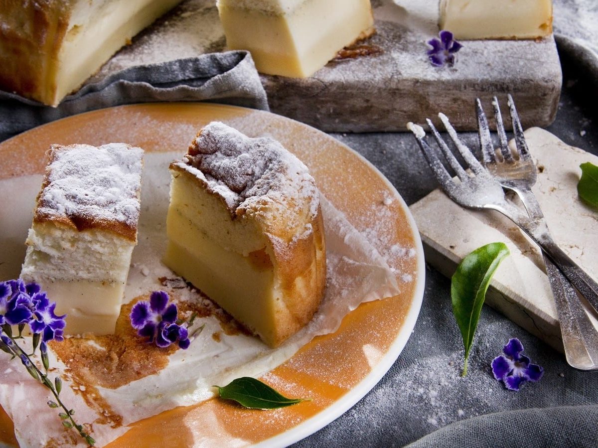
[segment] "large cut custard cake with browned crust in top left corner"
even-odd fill
[[[56,106],[181,0],[5,0],[0,89]]]

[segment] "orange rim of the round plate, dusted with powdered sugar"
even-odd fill
[[[278,139],[310,168],[320,190],[359,230],[367,230],[376,220],[379,223],[376,207],[385,197],[395,197],[385,179],[367,161],[317,130],[267,112],[201,103],[121,106],[75,115],[33,129],[0,144],[0,157],[4,161],[0,165],[0,178],[43,173],[42,154],[52,143],[100,145],[122,141],[149,153],[181,153],[187,148],[190,136],[212,120],[223,121],[247,135],[269,134]],[[414,229],[406,209],[393,200],[385,206],[385,211],[392,218],[385,218],[387,222],[376,228],[380,239],[403,247],[413,246]],[[371,353],[385,355],[401,334],[405,316],[416,300],[418,283],[423,279],[417,278],[420,272],[417,257],[405,260],[391,257],[389,264],[398,269],[398,275],[414,273],[410,282],[399,283],[401,294],[362,304],[344,318],[337,332],[316,337],[263,377],[283,395],[309,397],[312,401],[274,411],[252,411],[212,399],[141,420],[108,446],[154,447],[167,440],[169,446],[186,447],[197,434],[213,437],[219,445],[239,439],[252,443],[316,416],[364,380],[372,371],[370,362],[372,365],[377,362],[371,359]],[[364,352],[366,346],[370,349],[369,361]],[[2,420],[2,429],[5,428],[12,431]]]

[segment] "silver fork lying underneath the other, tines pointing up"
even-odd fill
[[[492,105],[500,142],[499,157],[497,157],[492,143],[486,114],[484,114],[479,99],[476,100],[475,105],[484,167],[500,182],[502,187],[517,194],[532,220],[544,221],[538,200],[532,193],[532,186],[536,183],[536,165],[529,154],[523,128],[511,95],[508,95],[508,107],[517,157],[514,157],[508,145],[498,99],[494,97]],[[542,256],[559,316],[567,362],[580,370],[595,370],[598,368],[598,331],[594,329],[568,279],[544,252],[542,252]]]

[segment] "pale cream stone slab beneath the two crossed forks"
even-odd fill
[[[598,279],[598,211],[585,206],[577,193],[579,165],[587,161],[598,165],[598,157],[539,128],[528,129],[525,135],[538,166],[533,192],[554,240]],[[486,303],[563,350],[541,253],[512,221],[495,211],[463,209],[440,190],[432,191],[410,210],[422,236],[426,262],[446,276],[453,275],[457,264],[474,249],[496,241],[507,244],[511,255],[496,271]],[[593,321],[596,325],[596,319]]]

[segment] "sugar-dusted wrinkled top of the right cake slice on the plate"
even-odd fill
[[[208,188],[220,194],[231,212],[269,211],[290,220],[303,221],[297,205],[309,203],[318,211],[318,191],[307,167],[274,139],[249,138],[218,121],[203,127],[178,166],[193,167]]]

